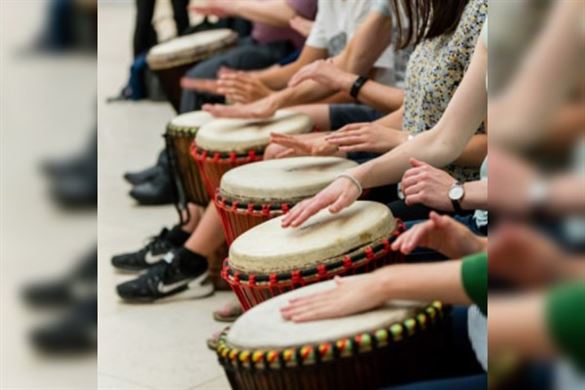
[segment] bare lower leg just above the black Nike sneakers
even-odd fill
[[[210,203],[201,222],[185,242],[185,248],[204,257],[210,257],[225,242],[223,227],[215,205]]]

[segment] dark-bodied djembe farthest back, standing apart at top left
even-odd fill
[[[197,62],[231,48],[238,36],[229,29],[197,32],[160,43],[146,56],[173,108],[179,112],[181,78]]]

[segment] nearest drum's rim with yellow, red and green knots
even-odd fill
[[[325,340],[319,343],[274,349],[238,349],[227,341],[229,327],[219,336],[216,354],[222,366],[231,365],[249,370],[288,369],[331,362],[375,349],[389,348],[421,330],[433,327],[445,318],[449,306],[433,301],[419,309],[414,316],[383,328],[362,332],[352,337]]]

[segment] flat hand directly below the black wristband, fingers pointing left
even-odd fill
[[[342,152],[386,153],[408,139],[408,134],[377,123],[352,123],[325,138]]]

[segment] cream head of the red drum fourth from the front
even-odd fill
[[[270,133],[301,134],[313,128],[308,115],[278,110],[268,119],[216,119],[197,133],[197,146],[214,152],[247,153],[268,145]]]

